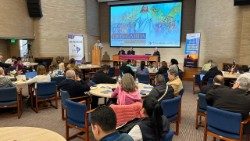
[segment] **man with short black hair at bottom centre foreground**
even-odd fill
[[[91,129],[97,141],[133,141],[125,133],[116,131],[116,115],[108,106],[97,107],[90,114]]]

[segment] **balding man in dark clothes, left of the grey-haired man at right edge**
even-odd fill
[[[224,78],[221,75],[216,75],[213,79],[212,85],[205,85],[201,88],[200,93],[207,94],[208,91],[217,89],[217,88],[223,88],[226,87],[224,85]]]

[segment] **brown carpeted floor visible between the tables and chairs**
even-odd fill
[[[185,93],[182,100],[182,120],[180,124],[180,134],[178,136],[174,136],[173,141],[202,141],[204,128],[200,127],[198,130],[195,129],[197,95],[193,95],[192,93],[192,82],[184,82],[184,89]],[[20,119],[17,119],[17,117],[13,115],[0,114],[0,127],[7,126],[30,126],[46,128],[65,137],[65,122],[61,120],[60,108],[49,108],[41,110],[39,113],[35,113],[30,108],[25,107]],[[171,128],[173,130],[175,129],[174,124],[171,125]],[[78,140],[80,139],[74,139],[73,141]],[[92,134],[91,140],[93,140]]]

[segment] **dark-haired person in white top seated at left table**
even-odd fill
[[[41,83],[41,82],[50,82],[51,78],[50,75],[47,74],[46,68],[43,65],[37,66],[37,76],[29,79],[27,83]]]

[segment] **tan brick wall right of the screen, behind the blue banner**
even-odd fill
[[[250,6],[234,6],[233,0],[197,0],[195,32],[201,33],[200,62],[215,60],[219,66],[233,59],[250,60]]]

